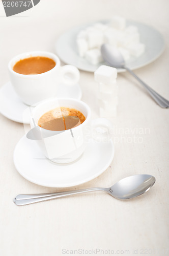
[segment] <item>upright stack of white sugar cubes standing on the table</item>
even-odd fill
[[[99,84],[100,117],[116,117],[118,105],[117,69],[102,65],[95,71],[94,76],[95,81]]]

